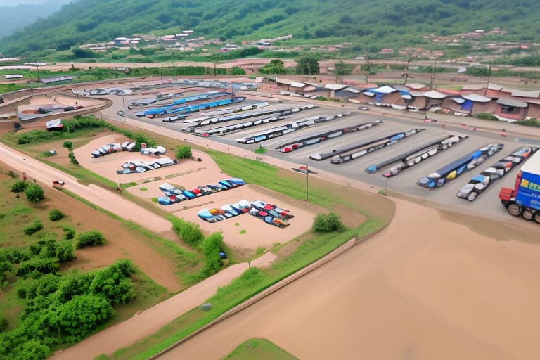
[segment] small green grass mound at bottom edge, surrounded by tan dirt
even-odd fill
[[[238,345],[223,360],[297,360],[298,358],[278,347],[270,340],[252,338]]]

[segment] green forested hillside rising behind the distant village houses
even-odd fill
[[[508,41],[530,41],[540,34],[537,5],[534,0],[79,0],[2,39],[0,53],[65,50],[114,37],[188,29],[232,40],[284,34],[310,41],[344,37],[358,46],[380,48],[413,45],[426,33],[500,27],[508,31]]]

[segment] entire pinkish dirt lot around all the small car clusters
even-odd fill
[[[91,158],[91,151],[99,146],[103,146],[105,143],[122,141],[126,141],[124,136],[106,134],[90,141],[84,146],[76,148],[74,153],[80,165],[115,181],[116,170],[120,169],[120,165],[123,162],[127,160],[146,161],[153,158],[148,155],[141,155],[140,153],[123,151],[100,158]],[[174,152],[172,151],[169,151],[165,155],[174,158]],[[118,181],[120,183],[129,183],[131,181],[140,183],[137,186],[129,188],[129,191],[141,198],[150,200],[150,198],[157,198],[163,195],[158,187],[164,182],[190,189],[205,184],[214,184],[219,180],[229,179],[231,177],[223,174],[215,162],[212,161],[212,158],[205,153],[194,150],[193,155],[202,161],[181,160],[178,165],[162,167],[139,174],[122,174],[118,175]],[[141,188],[146,188],[148,191],[141,191]],[[222,231],[225,243],[233,248],[255,249],[259,246],[267,248],[274,243],[285,243],[310,229],[317,211],[312,209],[307,210],[302,204],[292,205],[290,204],[292,201],[290,199],[285,201],[283,196],[276,198],[276,195],[271,196],[268,193],[262,193],[262,191],[263,189],[259,191],[259,188],[248,184],[174,205],[163,206],[163,209],[172,212],[177,217],[199,224],[201,229],[208,233]],[[290,210],[295,215],[295,218],[290,220],[290,226],[281,229],[277,226],[266,224],[261,219],[250,216],[249,214],[243,214],[238,217],[219,221],[218,223],[208,223],[197,216],[197,212],[201,209],[221,207],[222,205],[237,203],[243,199],[249,201],[262,200],[265,203],[278,205],[285,210]],[[260,233],[260,229],[264,229],[264,236]]]

